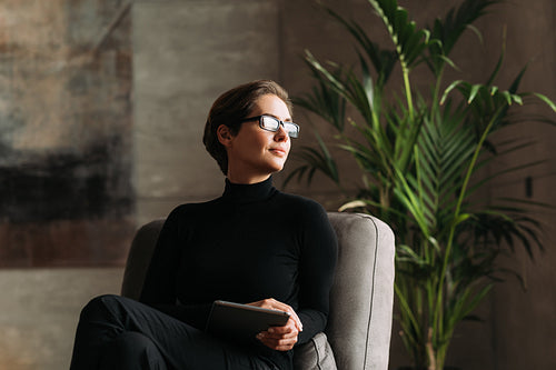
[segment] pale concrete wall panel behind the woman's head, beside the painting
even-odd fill
[[[278,30],[275,1],[133,6],[139,222],[221,193],[224,177],[201,142],[208,110],[236,84],[278,78]]]

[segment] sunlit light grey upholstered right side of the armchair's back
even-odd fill
[[[386,370],[394,304],[394,233],[375,217],[329,213],[338,266],[326,333],[340,370]]]

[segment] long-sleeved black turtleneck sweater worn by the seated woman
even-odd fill
[[[203,329],[215,300],[274,298],[299,316],[304,343],[325,329],[336,258],[320,204],[278,191],[271,177],[255,184],[226,180],[220,198],[170,213],[140,301]],[[279,369],[291,368],[290,351],[254,347]]]

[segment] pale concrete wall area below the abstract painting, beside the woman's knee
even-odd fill
[[[119,293],[121,268],[0,270],[0,369],[68,369],[81,308]]]

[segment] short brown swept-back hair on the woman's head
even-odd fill
[[[291,114],[292,107],[288,92],[271,80],[256,80],[240,84],[222,93],[212,103],[205,123],[202,142],[210,156],[218,162],[224,174],[228,173],[228,154],[218,140],[218,128],[220,124],[226,124],[232,134],[237,134],[241,127],[238,122],[247,118],[255,109],[257,99],[266,94],[274,94],[284,100]]]

